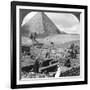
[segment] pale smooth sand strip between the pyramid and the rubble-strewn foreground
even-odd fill
[[[37,38],[36,39],[40,43],[44,43],[45,45],[50,45],[50,42],[53,42],[57,47],[65,48],[71,43],[80,44],[80,35],[68,35],[68,34],[58,34],[48,36],[46,38]],[[32,40],[28,37],[21,37],[21,45],[30,46],[32,44]]]

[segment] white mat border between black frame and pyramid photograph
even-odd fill
[[[28,79],[28,80],[20,80],[19,79],[19,9],[33,9],[33,10],[50,10],[50,11],[75,11],[82,12],[80,15],[81,29],[80,29],[80,76],[75,77],[60,77],[58,79],[47,78],[47,79]],[[68,9],[68,8],[51,8],[51,7],[34,7],[34,6],[16,6],[16,52],[17,52],[17,60],[16,60],[16,84],[36,84],[36,83],[52,83],[52,82],[72,82],[72,81],[84,81],[84,10],[83,9]]]

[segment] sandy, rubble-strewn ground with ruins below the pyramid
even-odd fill
[[[58,34],[36,38],[21,37],[21,79],[80,75],[80,35]]]

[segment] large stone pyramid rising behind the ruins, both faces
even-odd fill
[[[25,36],[30,36],[31,32],[36,32],[38,37],[62,33],[44,12],[37,12],[21,27],[21,32]]]

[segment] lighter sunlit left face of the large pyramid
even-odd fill
[[[33,18],[31,18],[24,27],[26,30],[31,32],[43,33],[44,27],[42,23],[42,14],[37,13]]]

